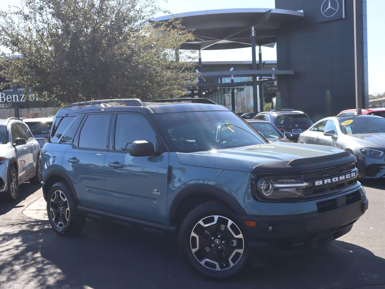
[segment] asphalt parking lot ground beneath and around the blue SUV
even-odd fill
[[[219,282],[192,272],[157,230],[87,220],[77,237],[56,235],[40,187],[25,183],[17,202],[0,203],[0,288],[385,288],[385,179],[363,185],[369,208],[350,233]]]

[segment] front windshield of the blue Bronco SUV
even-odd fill
[[[180,153],[265,143],[231,111],[164,113],[154,117],[174,151]]]

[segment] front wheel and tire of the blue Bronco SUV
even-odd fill
[[[203,227],[198,222],[202,222],[207,227]],[[210,223],[213,225],[208,225]],[[228,229],[228,226],[231,226],[231,229]],[[198,234],[202,228],[205,230],[204,233]],[[233,237],[234,232],[236,232],[235,236],[241,236],[241,239]],[[229,279],[244,272],[249,261],[248,243],[244,232],[242,222],[233,212],[217,202],[208,202],[196,207],[184,219],[179,230],[179,248],[187,263],[196,272],[209,278]],[[199,236],[200,240],[193,234]],[[212,239],[214,235],[215,240]],[[243,252],[238,252],[241,250]],[[225,256],[225,251],[230,258]],[[206,259],[208,261],[204,262]],[[210,262],[213,260],[217,262]]]

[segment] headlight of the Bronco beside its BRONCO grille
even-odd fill
[[[309,186],[298,176],[264,176],[258,180],[257,191],[268,199],[299,198]]]

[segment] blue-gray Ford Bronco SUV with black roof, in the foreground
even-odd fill
[[[223,278],[252,252],[334,240],[367,210],[349,151],[268,143],[224,106],[177,101],[58,111],[42,150],[57,234],[80,232],[87,215],[175,231],[193,269]]]

